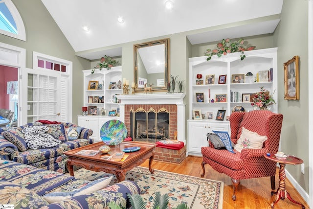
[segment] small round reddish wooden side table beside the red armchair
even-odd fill
[[[273,194],[276,194],[277,197],[276,197],[276,200],[274,202],[272,202],[272,204],[270,205],[272,208],[274,208],[274,205],[276,203],[278,203],[278,201],[280,199],[285,199],[285,196],[287,196],[287,198],[295,203],[295,204],[298,204],[302,207],[302,209],[305,209],[304,205],[302,205],[301,203],[297,202],[297,201],[294,201],[289,192],[286,191],[285,189],[285,180],[286,180],[286,173],[285,173],[285,165],[286,164],[301,164],[303,163],[303,160],[301,160],[300,158],[297,158],[297,157],[294,157],[294,156],[290,156],[290,155],[287,155],[286,158],[284,159],[278,159],[276,158],[276,156],[272,153],[270,153],[270,155],[268,156],[267,154],[264,154],[264,157],[268,160],[271,160],[271,161],[274,161],[276,163],[279,163],[280,165],[280,168],[279,168],[279,187],[277,189],[277,191],[271,191],[270,194],[273,195]]]

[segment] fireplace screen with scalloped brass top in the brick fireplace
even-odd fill
[[[148,112],[143,109],[131,110],[131,136],[134,141],[156,142],[169,138],[170,114],[166,109]]]

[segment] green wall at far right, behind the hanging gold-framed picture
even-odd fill
[[[304,161],[304,175],[300,165],[286,165],[286,169],[309,193],[308,1],[284,0],[274,42],[278,47],[278,110],[284,115],[281,150]],[[283,64],[296,55],[300,63],[300,100],[284,100]]]

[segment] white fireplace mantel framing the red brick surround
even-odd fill
[[[116,95],[121,99],[120,119],[125,121],[125,105],[177,105],[177,139],[186,144],[185,139],[185,105],[183,98],[184,93],[152,93],[152,94],[133,94],[133,95]]]

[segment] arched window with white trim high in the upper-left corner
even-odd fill
[[[0,33],[22,41],[26,40],[24,23],[11,0],[0,0]]]

